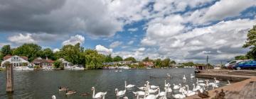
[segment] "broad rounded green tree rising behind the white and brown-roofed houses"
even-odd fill
[[[30,43],[30,44],[23,44],[20,47],[17,47],[14,50],[15,55],[19,56],[26,56],[28,57],[28,61],[32,62],[33,59],[36,59],[36,57],[40,57],[40,54],[38,52],[41,50],[41,47],[39,45]]]

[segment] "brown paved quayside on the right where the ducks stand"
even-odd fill
[[[205,70],[201,74],[196,74],[198,78],[217,78],[220,81],[237,81],[228,86],[215,88],[208,91],[210,98],[215,98],[214,91],[225,92],[225,98],[255,98],[256,97],[256,71],[252,70]],[[198,95],[192,95],[186,99],[200,98]]]

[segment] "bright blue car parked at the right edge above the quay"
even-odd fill
[[[250,61],[242,61],[239,62],[238,64],[235,64],[233,66],[233,69],[256,69],[256,61],[255,60],[250,60]]]

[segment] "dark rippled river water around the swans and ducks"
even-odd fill
[[[90,96],[81,96],[80,93],[92,93],[92,86],[95,87],[95,92],[105,92],[105,99],[115,99],[114,89],[124,90],[124,81],[127,84],[136,85],[132,89],[127,89],[126,96],[134,98],[132,91],[139,91],[137,87],[144,86],[146,81],[152,85],[160,86],[161,91],[164,91],[164,80],[167,83],[188,84],[192,90],[192,83],[196,82],[196,78],[191,79],[190,74],[193,74],[194,69],[127,69],[117,71],[116,69],[99,69],[85,71],[14,71],[14,93],[6,93],[6,72],[0,71],[0,99],[49,99],[55,95],[57,99],[77,99],[87,98]],[[171,78],[166,78],[166,73],[171,75]],[[186,75],[186,82],[183,81],[183,74]],[[150,77],[151,76],[151,77]],[[153,76],[153,77],[152,77]],[[199,80],[204,80],[199,78]],[[213,79],[210,79],[213,82]],[[225,85],[226,81],[221,81],[219,86]],[[75,95],[65,95],[64,92],[58,91],[58,86],[68,86],[69,89],[75,90],[78,93]],[[171,93],[174,94],[174,93]],[[168,98],[171,98],[169,94]]]

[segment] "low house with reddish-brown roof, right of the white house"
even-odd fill
[[[42,59],[41,57],[38,57],[36,59],[33,60],[33,66],[53,66],[53,60],[48,59],[46,57],[46,59]]]

